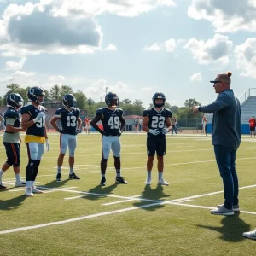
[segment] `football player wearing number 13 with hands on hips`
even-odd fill
[[[69,178],[80,179],[73,172],[74,165],[74,152],[77,147],[77,137],[82,125],[82,120],[79,117],[80,109],[76,108],[76,98],[73,94],[66,94],[63,96],[64,108],[59,108],[55,112],[55,116],[50,119],[50,124],[55,128],[56,131],[61,133],[60,136],[60,154],[57,162],[57,176],[56,181],[61,181],[61,166],[63,164],[64,156],[69,152]],[[59,128],[56,124],[57,120],[61,120],[61,127]]]

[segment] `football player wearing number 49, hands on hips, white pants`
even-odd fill
[[[115,183],[127,184],[124,177],[121,177],[121,162],[120,162],[120,149],[121,144],[119,137],[125,127],[125,119],[123,118],[123,110],[118,108],[119,97],[113,93],[108,92],[105,96],[107,107],[99,108],[96,111],[96,117],[91,120],[90,125],[102,134],[102,161],[101,172],[102,180],[101,185],[106,184],[106,169],[110,153],[113,152],[114,167],[116,170]],[[97,122],[102,121],[103,130],[99,128]],[[119,125],[121,123],[121,125]]]

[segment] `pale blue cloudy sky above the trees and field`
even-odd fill
[[[70,85],[96,102],[155,92],[172,106],[215,100],[232,72],[256,88],[256,0],[0,0],[0,95],[6,85]]]

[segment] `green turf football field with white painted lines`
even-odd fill
[[[2,137],[1,137],[2,139]],[[37,185],[42,195],[26,197],[15,188],[15,175],[3,175],[8,189],[0,191],[1,255],[254,255],[255,241],[241,236],[256,228],[256,139],[243,137],[237,152],[241,213],[214,216],[223,202],[211,138],[167,136],[164,177],[170,185],[145,186],[146,137],[124,134],[122,175],[127,185],[114,183],[113,157],[108,160],[106,187],[100,187],[101,137],[80,134],[75,172],[69,180],[67,159],[62,182],[55,182],[59,137],[49,134]],[[21,149],[25,177],[26,145]],[[0,146],[1,165],[6,160]],[[250,187],[251,186],[251,187]]]

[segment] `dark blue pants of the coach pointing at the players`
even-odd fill
[[[236,150],[214,145],[214,153],[224,184],[224,207],[232,209],[238,204],[238,178],[236,174]]]

